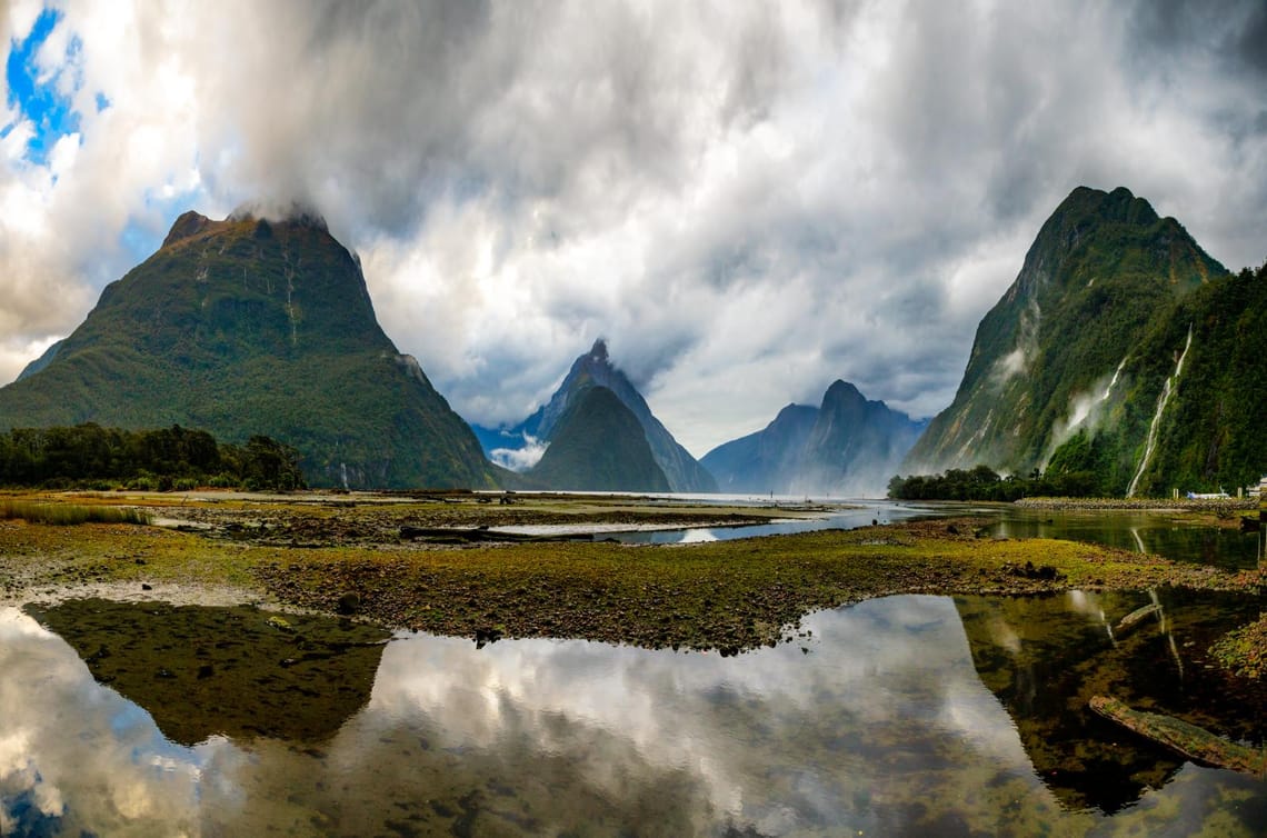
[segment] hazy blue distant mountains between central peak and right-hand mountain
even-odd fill
[[[726,492],[881,497],[924,427],[837,380],[821,407],[788,404],[764,430],[702,463]]]

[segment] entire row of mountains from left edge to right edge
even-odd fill
[[[298,449],[318,487],[862,496],[900,472],[984,464],[1156,496],[1257,483],[1264,394],[1267,266],[1232,275],[1147,200],[1078,188],[926,427],[836,382],[697,461],[599,340],[525,421],[473,432],[383,333],[357,260],[302,209],[182,214],[0,388],[0,425],[262,434]]]

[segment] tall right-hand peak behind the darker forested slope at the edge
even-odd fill
[[[1181,300],[1225,276],[1143,198],[1121,188],[1074,189],[981,321],[954,402],[929,425],[903,473],[977,464],[1029,473],[1079,432],[1086,440],[1114,425],[1124,426],[1129,449],[1114,456],[1138,459],[1138,429],[1153,411],[1147,393],[1159,382],[1134,375],[1131,359]]]

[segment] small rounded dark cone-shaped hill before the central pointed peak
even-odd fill
[[[598,384],[575,394],[552,429],[550,448],[526,477],[555,489],[670,491],[637,416]]]

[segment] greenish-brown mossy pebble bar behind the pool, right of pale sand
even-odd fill
[[[375,620],[438,634],[579,636],[723,653],[788,639],[811,610],[895,593],[1253,583],[1068,541],[977,540],[949,534],[945,522],[663,548],[309,550],[279,559],[256,569],[260,582],[281,601],[322,611],[336,611],[338,598],[353,593]],[[1025,576],[1028,562],[1055,568],[1058,578]]]

